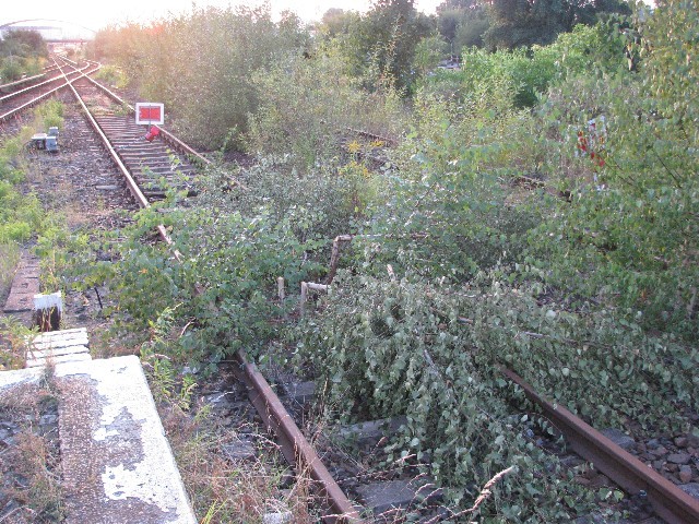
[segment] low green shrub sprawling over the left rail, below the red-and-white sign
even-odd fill
[[[264,207],[245,216],[230,207],[226,193],[212,190],[202,192],[197,206],[166,215],[141,211],[121,231],[127,241],[115,253],[118,261],[81,264],[74,269],[78,285],[106,283],[118,302],[110,313],[129,332],[144,333],[161,314],[170,315],[179,333],[170,347],[180,361],[213,371],[238,349],[254,357],[276,336],[276,321],[291,306],[273,300],[276,278],[298,288],[318,274],[312,253],[327,242],[315,235],[299,238],[312,216],[300,207],[280,216]],[[144,245],[143,236],[162,223],[177,225],[173,248]]]

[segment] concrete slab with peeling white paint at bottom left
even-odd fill
[[[138,357],[58,365],[54,374],[67,523],[194,524]]]

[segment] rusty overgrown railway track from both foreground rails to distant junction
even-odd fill
[[[151,143],[143,140],[144,130],[132,123],[132,117],[119,115],[126,103],[114,93],[99,86],[86,74],[97,69],[95,64],[76,68],[76,64],[61,66],[72,68],[46,82],[33,87],[19,90],[9,98],[0,98],[0,120],[9,119],[22,110],[40,103],[62,88],[69,88],[81,100],[81,106],[91,126],[99,134],[104,147],[127,180],[128,188],[141,207],[151,205],[152,199],[163,198],[166,188],[161,186],[165,179],[178,189],[196,194],[197,190],[187,179],[196,176],[197,164],[208,164],[204,157],[162,130],[164,143]],[[62,79],[62,80],[61,80]],[[32,95],[39,90],[38,96]],[[28,98],[26,98],[28,96]],[[13,107],[9,107],[10,102]],[[17,102],[19,100],[19,102]],[[99,114],[93,115],[90,106],[99,107]],[[10,116],[8,116],[10,115]],[[183,184],[183,186],[182,186]],[[161,236],[169,241],[164,228]],[[548,403],[524,383],[516,373],[505,370],[505,374],[522,388],[528,397],[542,406],[545,415],[569,439],[571,445],[585,460],[594,462],[609,478],[631,495],[643,493],[652,503],[655,513],[671,524],[690,524],[699,522],[699,500],[688,496],[672,483],[653,474],[638,460],[623,452],[608,439],[587,426],[578,417],[560,406]],[[359,522],[360,517],[354,504],[343,495],[318,454],[304,438],[291,415],[283,408],[257,368],[248,362],[242,353],[238,354],[236,374],[250,391],[250,397],[265,424],[281,434],[282,449],[287,460],[310,476],[318,486],[325,505],[324,520],[328,522]],[[627,456],[628,455],[628,456]],[[660,477],[660,478],[659,478]]]

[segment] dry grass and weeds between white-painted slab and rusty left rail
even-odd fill
[[[270,512],[291,512],[294,522],[299,524],[312,522],[308,514],[307,480],[299,479],[293,489],[281,491],[286,472],[281,456],[265,453],[254,460],[232,460],[222,452],[235,450],[245,437],[225,427],[220,413],[204,398],[194,402],[198,385],[194,376],[182,376],[178,366],[161,353],[168,350],[174,313],[174,310],[165,311],[151,323],[152,336],[142,345],[141,358],[149,371],[153,396],[180,474],[201,522],[263,522],[263,516]],[[254,428],[244,429],[257,436]],[[260,443],[265,446],[264,442]]]

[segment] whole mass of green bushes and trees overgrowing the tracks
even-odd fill
[[[457,508],[517,466],[484,522],[572,520],[589,498],[532,441],[540,417],[500,366],[597,427],[697,431],[686,417],[699,408],[696,8],[550,20],[544,40],[525,38],[547,45],[469,48],[461,71],[437,74],[425,57],[438,43],[419,46],[435,34],[417,31],[425,20],[405,1],[328,13],[316,39],[264,11],[115,29],[102,49],[139,64],[129,74],[144,92],[162,93],[202,143],[247,146],[257,164],[212,169],[190,207],[174,194],[168,213],[142,212],[118,262],[83,282],[109,283],[121,326],[167,317],[158,350],[175,361],[213,370],[239,348],[258,360],[293,348],[341,418],[407,415],[390,450],[429,456]],[[469,17],[490,24],[486,45],[493,16]],[[367,40],[379,22],[387,32]],[[203,25],[240,33],[210,39]],[[246,32],[260,59],[239,68]],[[196,74],[192,55],[211,74]],[[352,127],[400,144],[363,145]],[[363,154],[375,146],[384,160]],[[163,222],[181,261],[141,243]],[[296,322],[295,290],[324,276],[337,234],[357,235],[345,271]]]

